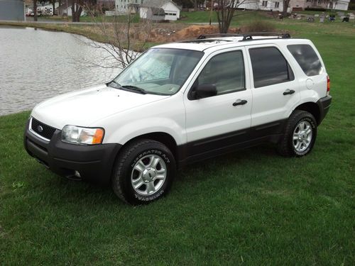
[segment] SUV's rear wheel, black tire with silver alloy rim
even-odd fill
[[[312,150],[317,137],[317,122],[312,113],[295,110],[288,118],[285,133],[278,143],[283,156],[305,156]]]

